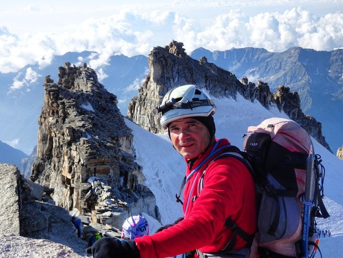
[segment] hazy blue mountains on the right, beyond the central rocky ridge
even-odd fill
[[[316,51],[292,47],[273,53],[263,48],[232,48],[209,51],[198,48],[190,55],[205,56],[208,62],[235,73],[268,83],[271,91],[280,85],[300,95],[302,111],[322,123],[325,140],[334,154],[343,145],[343,137],[335,133],[343,126],[343,49]]]

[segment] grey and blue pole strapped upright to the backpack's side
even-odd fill
[[[313,174],[313,147],[311,144],[310,153],[306,161],[306,182],[305,182],[305,196],[303,198],[304,203],[304,217],[303,217],[303,229],[302,229],[302,257],[308,258],[308,231],[310,228],[310,213],[312,199],[311,194],[314,188],[314,174]]]

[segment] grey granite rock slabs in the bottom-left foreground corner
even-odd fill
[[[86,241],[75,234],[68,211],[42,202],[46,188],[3,163],[0,184],[0,257],[88,257]]]

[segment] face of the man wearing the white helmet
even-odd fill
[[[192,117],[172,121],[169,131],[175,149],[186,159],[197,157],[210,143],[207,127]]]

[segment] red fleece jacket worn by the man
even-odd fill
[[[218,140],[217,140],[218,141]],[[204,162],[210,153],[228,145],[219,140],[186,170],[188,177],[194,168]],[[215,147],[215,148],[214,148]],[[184,188],[184,220],[157,234],[136,238],[141,258],[166,258],[199,249],[203,253],[225,248],[233,232],[224,226],[228,216],[248,234],[256,232],[255,186],[249,170],[235,158],[221,158],[209,165],[220,154],[215,153],[190,177]],[[206,169],[204,188],[199,193],[199,179]],[[246,242],[237,236],[234,249]]]

